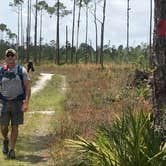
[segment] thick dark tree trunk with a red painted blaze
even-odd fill
[[[155,0],[154,21],[154,124],[166,131],[166,1]]]

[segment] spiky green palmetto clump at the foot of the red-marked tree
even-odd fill
[[[111,126],[102,125],[96,141],[78,137],[66,144],[76,150],[76,158],[83,155],[79,163],[85,165],[87,161],[92,166],[164,166],[166,162],[166,143],[154,133],[150,114],[130,109]]]

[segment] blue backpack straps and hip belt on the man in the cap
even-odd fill
[[[0,67],[0,83],[2,81],[2,78],[5,74],[5,70],[6,70],[6,66],[1,66]],[[23,88],[23,93],[18,95],[16,97],[16,100],[24,100],[25,99],[25,86],[24,86],[24,80],[23,80],[23,66],[21,64],[18,64],[18,67],[17,67],[17,74],[21,80],[21,84],[22,84],[22,88]],[[0,99],[1,100],[7,100],[5,96],[3,96],[1,93],[0,93]]]

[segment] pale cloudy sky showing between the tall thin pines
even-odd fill
[[[9,2],[13,0],[1,0],[0,6],[0,23],[7,25],[12,32],[17,33],[17,14],[9,7]],[[26,2],[27,0],[25,0]],[[53,5],[55,0],[46,0],[48,4]],[[93,0],[92,0],[93,1]],[[32,0],[35,2],[35,0]],[[67,9],[72,9],[72,0],[61,0]],[[127,0],[107,0],[106,4],[106,20],[105,20],[105,33],[104,43],[115,45],[118,47],[120,44],[126,46],[126,24],[127,24]],[[141,43],[149,42],[149,17],[150,17],[150,0],[130,0],[130,30],[129,30],[129,45],[136,46]],[[26,6],[24,6],[26,11]],[[76,9],[77,21],[78,8]],[[102,3],[97,6],[97,17],[102,18]],[[34,11],[32,11],[32,20],[34,18]],[[48,14],[43,16],[43,42],[49,43],[51,40],[56,40],[56,17],[50,18]],[[23,15],[24,28],[26,26],[26,13]],[[32,21],[32,24],[34,22]],[[76,23],[77,24],[77,23]],[[72,32],[72,14],[61,18],[60,20],[60,43],[65,44],[65,29],[68,26],[69,42],[71,43]],[[76,25],[75,25],[76,26]],[[32,25],[32,35],[34,34],[34,25]],[[98,36],[100,36],[100,23],[98,23]],[[75,27],[76,30],[76,27]],[[79,43],[85,41],[85,9],[81,11],[80,22],[80,36]],[[76,40],[75,40],[76,43]],[[89,14],[89,30],[88,30],[88,43],[95,45],[95,27],[94,19]]]

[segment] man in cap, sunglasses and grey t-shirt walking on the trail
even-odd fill
[[[5,52],[6,65],[0,67],[0,125],[3,136],[3,154],[15,159],[15,144],[19,125],[23,124],[24,112],[28,109],[31,94],[30,78],[26,69],[17,63],[14,49]],[[11,136],[8,137],[11,124]]]

